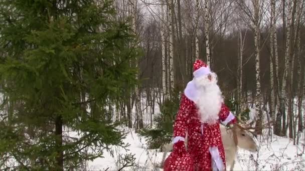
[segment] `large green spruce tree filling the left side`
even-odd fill
[[[138,48],[111,0],[0,0],[0,167],[66,170],[125,146],[107,106]],[[67,129],[78,132],[70,135]],[[73,136],[73,137],[71,137]]]

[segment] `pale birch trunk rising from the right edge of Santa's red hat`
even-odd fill
[[[206,57],[207,57],[207,65],[212,68],[211,66],[211,56],[210,56],[210,40],[209,40],[209,3],[208,0],[205,0],[204,5],[204,30],[205,30],[205,40],[206,40]]]

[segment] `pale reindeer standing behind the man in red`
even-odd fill
[[[225,149],[225,160],[226,160],[226,166],[230,166],[230,170],[233,170],[234,164],[235,164],[235,157],[237,153],[237,147],[240,147],[242,149],[256,152],[257,151],[257,145],[250,135],[252,133],[255,137],[255,133],[252,131],[249,131],[249,129],[253,129],[253,127],[243,127],[239,124],[235,124],[233,128],[226,128],[223,125],[220,125],[220,131],[221,131],[221,138]],[[235,130],[235,131],[234,131]],[[187,137],[187,134],[186,134]],[[187,147],[187,138],[185,141],[185,146]],[[163,158],[162,158],[162,166],[164,165],[164,160],[167,155],[167,152],[171,151],[173,149],[173,144],[168,143],[163,145],[162,151]]]

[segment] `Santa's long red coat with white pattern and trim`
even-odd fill
[[[178,157],[179,154],[174,152],[174,147],[173,152],[167,158],[168,165],[165,165],[165,170],[177,170],[177,165],[181,163],[192,163],[192,166],[188,167],[192,169],[180,170],[212,170],[212,168],[217,170],[215,166],[225,170],[225,153],[220,134],[220,122],[224,124],[236,122],[236,118],[225,104],[222,104],[217,123],[208,125],[200,122],[196,104],[183,94],[174,124],[174,143],[178,140],[184,141],[186,131],[188,132],[187,157]],[[179,162],[177,162],[177,158],[179,158]]]

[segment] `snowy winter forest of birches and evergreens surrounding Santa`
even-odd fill
[[[163,170],[196,59],[258,146],[232,170],[304,170],[304,32],[305,0],[0,0],[0,170]]]

